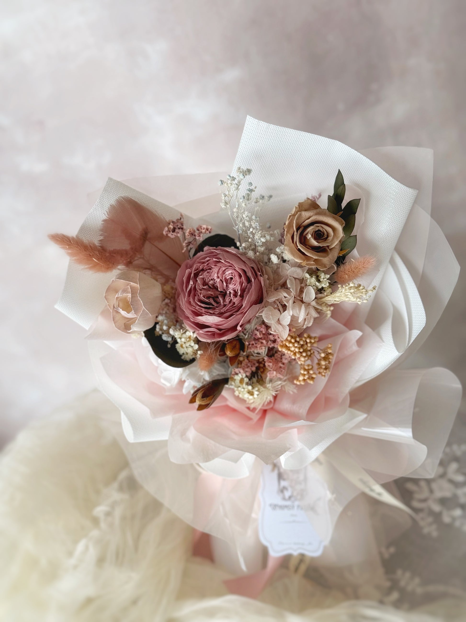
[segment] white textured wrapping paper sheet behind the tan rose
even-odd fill
[[[251,117],[244,126],[234,170],[237,166],[252,169],[258,190],[273,195],[263,215],[273,229],[280,229],[283,214],[288,215],[311,192],[321,192],[321,203],[326,206],[337,170],[344,171],[345,183],[357,188],[368,206],[358,253],[377,256],[380,272],[390,260],[418,194],[342,142],[277,128]]]

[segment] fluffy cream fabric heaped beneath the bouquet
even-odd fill
[[[191,528],[135,481],[100,423],[94,392],[24,430],[0,460],[2,622],[427,622],[439,617],[344,601],[285,570],[260,601],[190,556]],[[437,605],[431,610],[438,615]]]

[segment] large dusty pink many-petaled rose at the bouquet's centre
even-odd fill
[[[266,296],[255,259],[234,248],[209,246],[182,264],[176,289],[178,315],[202,341],[235,337],[257,315]]]

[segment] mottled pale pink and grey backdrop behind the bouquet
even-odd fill
[[[2,440],[93,386],[47,233],[109,176],[230,169],[247,114],[432,147],[432,215],[466,256],[464,0],[2,0],[0,32]],[[464,317],[460,284],[416,364],[465,381]]]

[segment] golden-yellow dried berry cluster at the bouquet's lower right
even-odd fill
[[[318,374],[325,378],[329,373],[333,358],[332,344],[329,343],[323,350],[319,350],[316,348],[318,340],[318,337],[312,335],[298,337],[298,335],[290,334],[278,344],[278,350],[285,352],[299,363],[299,376],[295,379],[295,384],[312,384]],[[316,371],[311,363],[314,357],[317,359]]]

